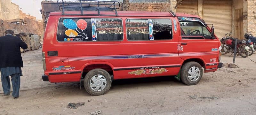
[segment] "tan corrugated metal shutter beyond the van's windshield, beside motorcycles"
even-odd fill
[[[203,17],[208,24],[213,24],[219,39],[232,32],[232,0],[204,0]]]

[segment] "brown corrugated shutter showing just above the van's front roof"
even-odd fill
[[[193,15],[198,14],[197,0],[182,0],[182,4],[179,5],[179,2],[177,4],[178,6],[176,10],[178,13],[193,14]]]

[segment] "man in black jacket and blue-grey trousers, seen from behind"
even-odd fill
[[[5,36],[0,37],[0,71],[4,96],[10,96],[9,76],[11,76],[12,96],[17,99],[20,93],[21,67],[23,67],[20,48],[27,49],[28,45],[13,34],[12,30],[6,30]]]

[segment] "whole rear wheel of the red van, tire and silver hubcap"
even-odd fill
[[[92,96],[103,95],[111,87],[111,77],[104,69],[93,69],[84,78],[84,88]]]

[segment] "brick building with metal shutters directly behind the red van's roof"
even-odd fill
[[[122,0],[111,0],[119,1]],[[256,0],[129,0],[130,11],[174,11],[198,15],[214,24],[219,38],[225,33],[244,38],[247,31],[256,35]],[[121,4],[122,6],[122,4]],[[51,11],[59,11],[53,2],[42,2],[43,20]],[[46,23],[44,23],[45,27]]]

